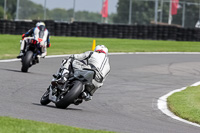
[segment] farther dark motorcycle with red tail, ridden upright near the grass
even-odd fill
[[[40,55],[42,52],[42,48],[40,47],[40,42],[42,39],[38,38],[38,40],[34,40],[32,37],[28,37],[28,40],[26,41],[26,46],[24,50],[24,55],[21,58],[22,72],[28,72],[28,69],[35,65],[36,63],[39,63],[38,55]]]

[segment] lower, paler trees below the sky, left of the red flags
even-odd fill
[[[0,18],[3,18],[3,7],[4,0],[0,1]],[[43,5],[35,4],[30,0],[20,0],[19,4],[19,19],[33,19],[42,20],[44,19],[44,8]],[[15,19],[16,17],[16,0],[7,0],[7,18]],[[73,17],[73,9],[65,10],[56,8],[53,10],[46,9],[46,19],[56,21],[71,21]],[[100,13],[93,13],[88,11],[77,11],[75,12],[76,21],[92,21],[100,22]]]

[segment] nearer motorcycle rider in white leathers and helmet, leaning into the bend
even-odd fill
[[[68,59],[63,59],[61,68],[58,74],[55,76],[60,76],[58,80],[52,80],[52,85],[57,82],[59,84],[64,84],[69,77],[70,71],[75,69],[93,69],[95,70],[95,77],[93,77],[91,86],[86,90],[88,92],[82,93],[82,98],[85,101],[91,100],[94,92],[103,85],[105,78],[110,72],[110,64],[108,58],[108,49],[104,45],[97,45],[94,51],[87,51],[82,54],[71,55]],[[82,102],[79,101],[79,103]],[[78,103],[78,104],[79,104]]]

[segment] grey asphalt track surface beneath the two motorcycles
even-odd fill
[[[68,109],[39,101],[63,58],[43,59],[29,73],[0,63],[0,115],[121,133],[197,133],[157,109],[157,99],[200,80],[200,55],[110,55],[111,72],[93,100]]]

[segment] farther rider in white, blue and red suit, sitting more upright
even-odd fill
[[[36,27],[30,29],[28,32],[22,35],[22,41],[20,40],[20,53],[19,56],[17,56],[17,58],[21,58],[24,55],[25,46],[32,40],[37,40],[40,42],[42,52],[40,57],[44,58],[47,54],[46,47],[49,48],[51,46],[49,32],[46,29],[44,22],[37,22]]]

